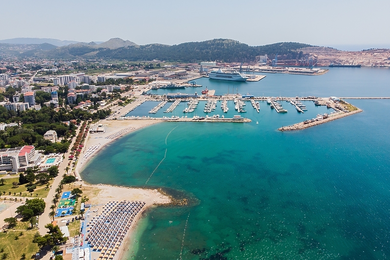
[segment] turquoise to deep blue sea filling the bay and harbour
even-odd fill
[[[387,68],[264,75],[258,82],[202,78],[195,81],[203,87],[179,91],[390,97]],[[112,142],[81,176],[188,199],[186,206],[147,210],[122,259],[389,259],[390,100],[347,101],[363,112],[302,131],[277,128],[332,111],[304,101],[302,114],[281,101],[288,113],[277,114],[261,101],[259,113],[247,102],[241,115],[250,123],[162,122]],[[148,114],[157,103],[145,102],[128,116],[166,116],[166,107]],[[186,106],[181,102],[168,115],[206,115],[202,102],[193,113],[184,114]],[[232,102],[229,108],[225,117],[237,114]],[[220,102],[207,115],[216,114],[224,114]]]

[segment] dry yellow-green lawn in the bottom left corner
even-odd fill
[[[38,252],[37,244],[32,242],[37,229],[26,230],[28,226],[30,223],[18,221],[15,230],[0,233],[0,248],[4,248],[4,253],[9,254],[7,259],[19,260],[23,253],[26,254],[26,259],[30,259]],[[19,236],[20,232],[23,232],[22,236]],[[16,236],[19,237],[18,240],[15,240]]]

